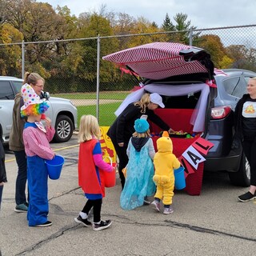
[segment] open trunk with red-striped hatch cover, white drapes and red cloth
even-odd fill
[[[143,78],[141,88],[129,94],[118,107],[117,116],[128,104],[139,101],[144,93],[158,93],[166,107],[158,108],[155,113],[174,131],[182,131],[170,134],[176,157],[180,158],[197,138],[205,138],[210,106],[217,95],[214,64],[206,50],[173,42],[154,42],[121,50],[103,59]],[[160,132],[160,128],[150,122],[155,150]],[[200,162],[198,169],[186,176],[188,194],[200,194],[203,165]]]

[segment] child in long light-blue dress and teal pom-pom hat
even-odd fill
[[[126,183],[121,193],[120,205],[124,210],[132,210],[143,204],[150,204],[147,197],[155,191],[154,145],[150,138],[150,125],[145,119],[134,123],[134,134],[127,147],[129,158],[126,166]]]

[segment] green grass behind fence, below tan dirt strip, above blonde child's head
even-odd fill
[[[99,125],[100,126],[110,126],[116,116],[114,115],[114,111],[118,109],[121,102],[109,103],[109,104],[101,104],[99,106]],[[83,114],[93,114],[96,117],[96,106],[78,106],[78,126],[80,122],[80,118]]]

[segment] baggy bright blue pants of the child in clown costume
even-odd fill
[[[48,172],[44,159],[38,156],[27,156],[27,182],[30,204],[27,211],[29,226],[47,222],[48,205]]]

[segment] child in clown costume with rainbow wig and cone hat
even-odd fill
[[[40,99],[33,88],[22,86],[24,105],[21,107],[22,117],[27,116],[23,130],[23,141],[27,156],[27,181],[29,191],[29,208],[27,220],[29,226],[51,226],[48,221],[48,172],[45,159],[53,159],[55,154],[49,142],[54,137],[55,130],[50,126],[50,118],[44,113],[49,108],[45,99]],[[46,127],[41,119],[46,121]]]

